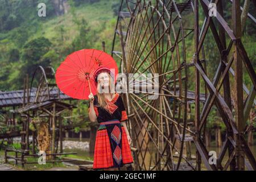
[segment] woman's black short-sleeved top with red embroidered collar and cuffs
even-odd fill
[[[97,115],[97,121],[99,123],[114,119],[118,119],[119,121],[127,120],[125,106],[123,105],[122,97],[118,93],[115,93],[112,101],[107,100],[107,102],[111,114],[102,107],[100,107],[100,104],[98,104],[98,97],[94,96],[93,108]]]

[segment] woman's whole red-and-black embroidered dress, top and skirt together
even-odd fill
[[[118,93],[108,101],[111,114],[98,104],[97,96],[93,101],[97,121],[100,123],[96,134],[93,169],[120,168],[123,164],[133,163],[130,146],[122,122],[127,121],[123,101]]]

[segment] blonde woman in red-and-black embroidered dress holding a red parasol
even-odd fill
[[[93,169],[117,169],[133,163],[131,138],[127,130],[127,114],[121,96],[114,92],[110,69],[100,68],[94,73],[97,96],[90,93],[89,118],[100,123],[96,134]]]

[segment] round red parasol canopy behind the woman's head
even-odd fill
[[[114,80],[118,74],[117,63],[112,56],[97,49],[82,49],[71,53],[56,71],[56,84],[69,97],[88,100],[90,90],[97,93],[94,72],[106,67],[114,69]]]

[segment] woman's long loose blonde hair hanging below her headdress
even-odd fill
[[[108,73],[108,72],[102,72],[102,73]],[[109,76],[109,89],[108,89],[108,91],[110,91],[110,96],[113,99],[113,95],[115,94],[115,89],[113,88],[112,84],[114,83],[114,80],[113,80],[113,77],[111,77],[109,75],[109,73],[108,73],[108,76]],[[108,101],[104,97],[104,93],[100,92],[102,90],[100,81],[97,82],[97,90],[98,90],[98,92],[97,92],[98,104],[100,104],[100,106],[103,109],[105,109],[106,111],[108,111],[110,113],[109,107],[108,107]]]

